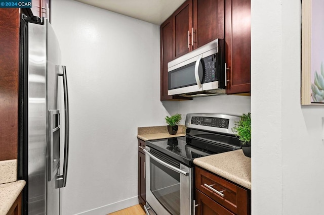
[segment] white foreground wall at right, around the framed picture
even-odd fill
[[[322,106],[300,105],[300,1],[251,1],[252,214],[323,214]]]

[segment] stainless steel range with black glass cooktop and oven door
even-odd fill
[[[231,128],[239,116],[187,114],[185,137],[146,141],[147,214],[194,214],[193,159],[241,148]]]

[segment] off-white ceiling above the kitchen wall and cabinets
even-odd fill
[[[75,0],[156,25],[162,24],[185,0]]]

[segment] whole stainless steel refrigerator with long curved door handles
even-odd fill
[[[68,145],[66,68],[58,40],[48,20],[22,14],[18,178],[26,181],[23,214],[60,214]]]

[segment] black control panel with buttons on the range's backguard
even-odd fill
[[[191,124],[228,129],[229,119],[217,118],[217,117],[192,116]]]

